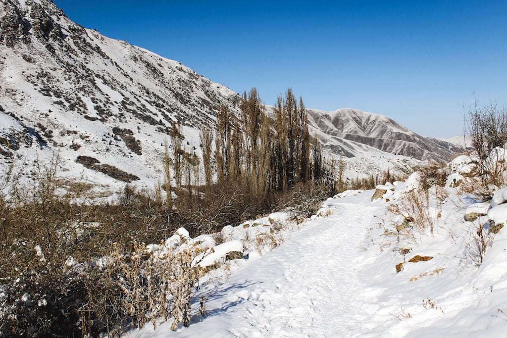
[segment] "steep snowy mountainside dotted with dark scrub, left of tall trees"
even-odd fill
[[[69,176],[114,184],[75,162],[91,156],[151,185],[172,123],[185,126],[191,150],[195,128],[239,99],[176,61],[82,28],[51,2],[3,0],[0,11],[0,114],[26,126],[2,128],[3,161],[54,151]]]

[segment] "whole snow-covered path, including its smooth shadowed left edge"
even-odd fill
[[[304,337],[364,331],[371,315],[368,304],[375,299],[368,299],[356,274],[357,256],[376,207],[369,196],[326,204],[335,209],[331,216],[311,221],[275,250],[235,271],[208,299],[208,315],[175,333]],[[160,327],[139,333],[162,337],[173,332]]]

